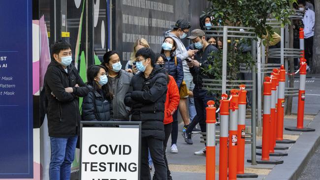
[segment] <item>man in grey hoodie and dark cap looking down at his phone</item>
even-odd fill
[[[165,32],[165,37],[171,37],[174,39],[174,41],[177,43],[175,55],[182,60],[183,64],[183,72],[184,72],[184,80],[187,84],[188,90],[192,90],[194,87],[194,84],[192,83],[192,75],[189,70],[189,66],[186,62],[186,59],[194,56],[194,54],[197,52],[197,50],[189,50],[187,51],[186,47],[182,43],[181,39],[185,38],[187,36],[187,33],[189,32],[191,28],[190,22],[186,20],[178,20],[175,25],[171,26],[173,29],[168,30]],[[193,84],[193,87],[192,87]],[[195,116],[195,108],[193,101],[189,102],[189,112],[190,116],[188,116],[187,113],[187,98],[186,97],[180,97],[180,103],[179,103],[179,111],[181,114],[181,117],[185,123],[184,130],[188,128],[190,124],[190,119],[192,120]],[[193,107],[193,108],[192,108]],[[189,119],[190,117],[190,119]],[[177,120],[177,113],[173,115],[173,123],[172,123],[172,133],[171,133],[171,153],[178,153],[177,149],[177,138],[178,138],[178,120]]]

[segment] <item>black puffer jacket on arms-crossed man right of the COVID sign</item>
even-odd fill
[[[131,120],[142,121],[142,137],[164,139],[164,102],[167,92],[165,69],[155,67],[148,78],[144,73],[133,76],[125,103],[131,107]]]

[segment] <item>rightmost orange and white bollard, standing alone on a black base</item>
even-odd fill
[[[301,131],[311,132],[315,131],[313,128],[303,126],[304,116],[304,101],[306,96],[306,75],[307,75],[307,63],[305,59],[300,60],[300,82],[299,82],[299,95],[298,95],[298,115],[297,115],[297,126],[286,127],[289,131]]]

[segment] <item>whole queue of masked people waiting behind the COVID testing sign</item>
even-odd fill
[[[188,37],[193,44],[186,48],[181,39],[190,29],[189,22],[178,20],[165,32],[158,54],[145,39],[137,39],[125,70],[118,53],[108,51],[101,64],[88,67],[86,83],[71,64],[71,45],[57,41],[51,46],[44,82],[51,180],[70,179],[80,120],[141,121],[141,180],[151,180],[149,154],[155,167],[152,179],[172,180],[165,152],[171,136],[170,152],[178,153],[178,109],[183,137],[192,144],[192,132],[206,132],[206,103],[216,97],[201,88],[201,81],[208,55],[217,51],[212,44],[219,41],[206,39],[204,31],[196,29]],[[205,148],[194,154],[205,154]]]

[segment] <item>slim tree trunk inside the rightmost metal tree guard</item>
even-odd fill
[[[291,20],[292,24],[292,20]],[[293,29],[292,26],[289,26],[289,48],[293,49]],[[294,59],[293,57],[289,58],[289,70],[290,73],[294,72]],[[289,78],[289,88],[293,88],[294,85],[294,76],[288,76]],[[292,110],[292,96],[287,96],[287,109],[286,115],[291,115]]]

